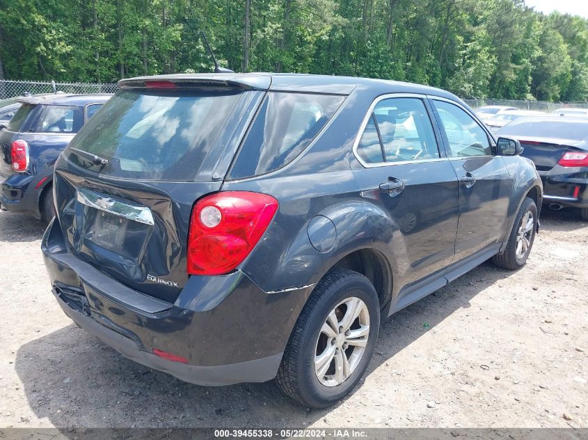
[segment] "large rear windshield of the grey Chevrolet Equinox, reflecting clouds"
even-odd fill
[[[120,90],[69,146],[106,159],[100,174],[191,181],[240,93]],[[70,154],[69,159],[85,168],[93,166],[81,154]]]

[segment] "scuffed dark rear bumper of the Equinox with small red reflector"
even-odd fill
[[[129,359],[207,386],[273,379],[312,289],[265,293],[237,271],[191,277],[171,303],[133,291],[67,252],[56,220],[42,251],[54,295],[74,323]],[[154,355],[154,348],[188,363]]]

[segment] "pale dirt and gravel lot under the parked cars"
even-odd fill
[[[186,384],[98,343],[52,298],[43,229],[0,212],[0,427],[588,426],[588,223],[573,212],[543,215],[523,270],[484,263],[386,320],[365,382],[312,411],[272,382]]]

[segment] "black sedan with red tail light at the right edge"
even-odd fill
[[[525,117],[498,131],[521,142],[543,180],[543,202],[551,209],[580,209],[588,220],[588,120],[544,115]]]

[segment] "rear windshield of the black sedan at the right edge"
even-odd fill
[[[514,120],[505,125],[499,132],[500,136],[532,136],[534,138],[564,138],[588,140],[588,121],[561,119]]]

